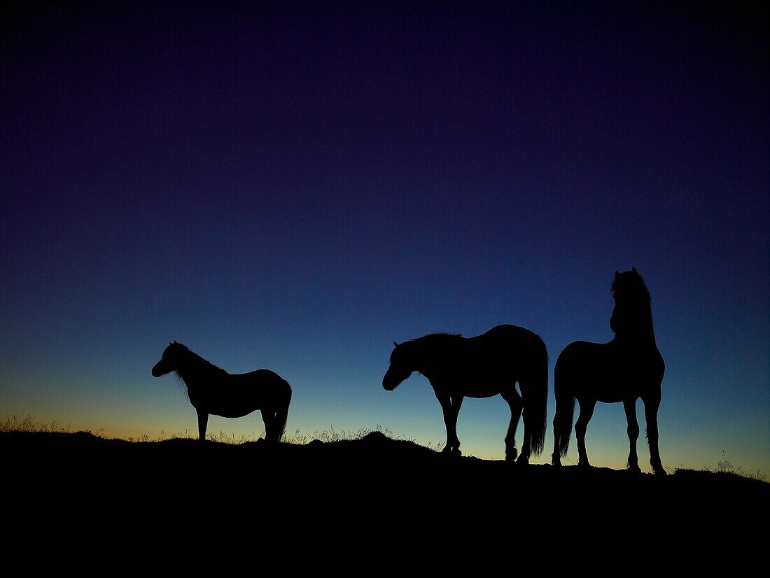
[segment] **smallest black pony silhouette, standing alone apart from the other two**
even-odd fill
[[[286,428],[291,386],[269,369],[230,375],[209,363],[182,343],[170,343],[152,368],[155,377],[175,372],[187,388],[187,397],[198,413],[198,437],[206,439],[209,414],[243,417],[261,410],[265,439],[277,442]]]

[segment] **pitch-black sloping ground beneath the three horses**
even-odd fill
[[[45,556],[25,560],[53,570],[735,572],[761,555],[770,497],[735,474],[519,466],[376,432],[304,445],[0,432],[0,456],[6,551],[35,544]]]

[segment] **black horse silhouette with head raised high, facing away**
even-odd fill
[[[574,426],[578,466],[589,467],[585,432],[597,402],[623,403],[628,422],[628,469],[641,471],[636,453],[639,424],[636,400],[644,403],[650,464],[656,474],[665,475],[658,451],[658,407],[665,363],[655,345],[650,292],[634,267],[615,272],[612,282],[615,306],[610,327],[615,338],[608,343],[576,341],[561,352],[554,368],[554,453],[551,463],[561,466],[570,443],[575,400],[580,416]]]

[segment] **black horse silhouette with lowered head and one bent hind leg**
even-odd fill
[[[539,336],[523,327],[501,325],[476,337],[432,333],[401,344],[394,341],[393,346],[383,388],[393,391],[415,371],[427,377],[444,412],[444,452],[461,455],[457,414],[463,399],[499,393],[511,408],[505,459],[516,459],[516,428],[522,415],[524,444],[517,463],[529,463],[531,453],[541,453],[548,401],[548,352]]]

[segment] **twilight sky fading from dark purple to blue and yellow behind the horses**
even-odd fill
[[[552,369],[612,338],[612,276],[636,266],[664,465],[767,472],[768,27],[746,6],[4,8],[0,418],[192,433],[150,376],[176,339],[280,373],[290,432],[444,443],[426,379],[380,385],[393,339],[510,322]],[[467,399],[464,453],[501,459],[508,419]],[[624,466],[625,428],[598,406],[594,465]]]

